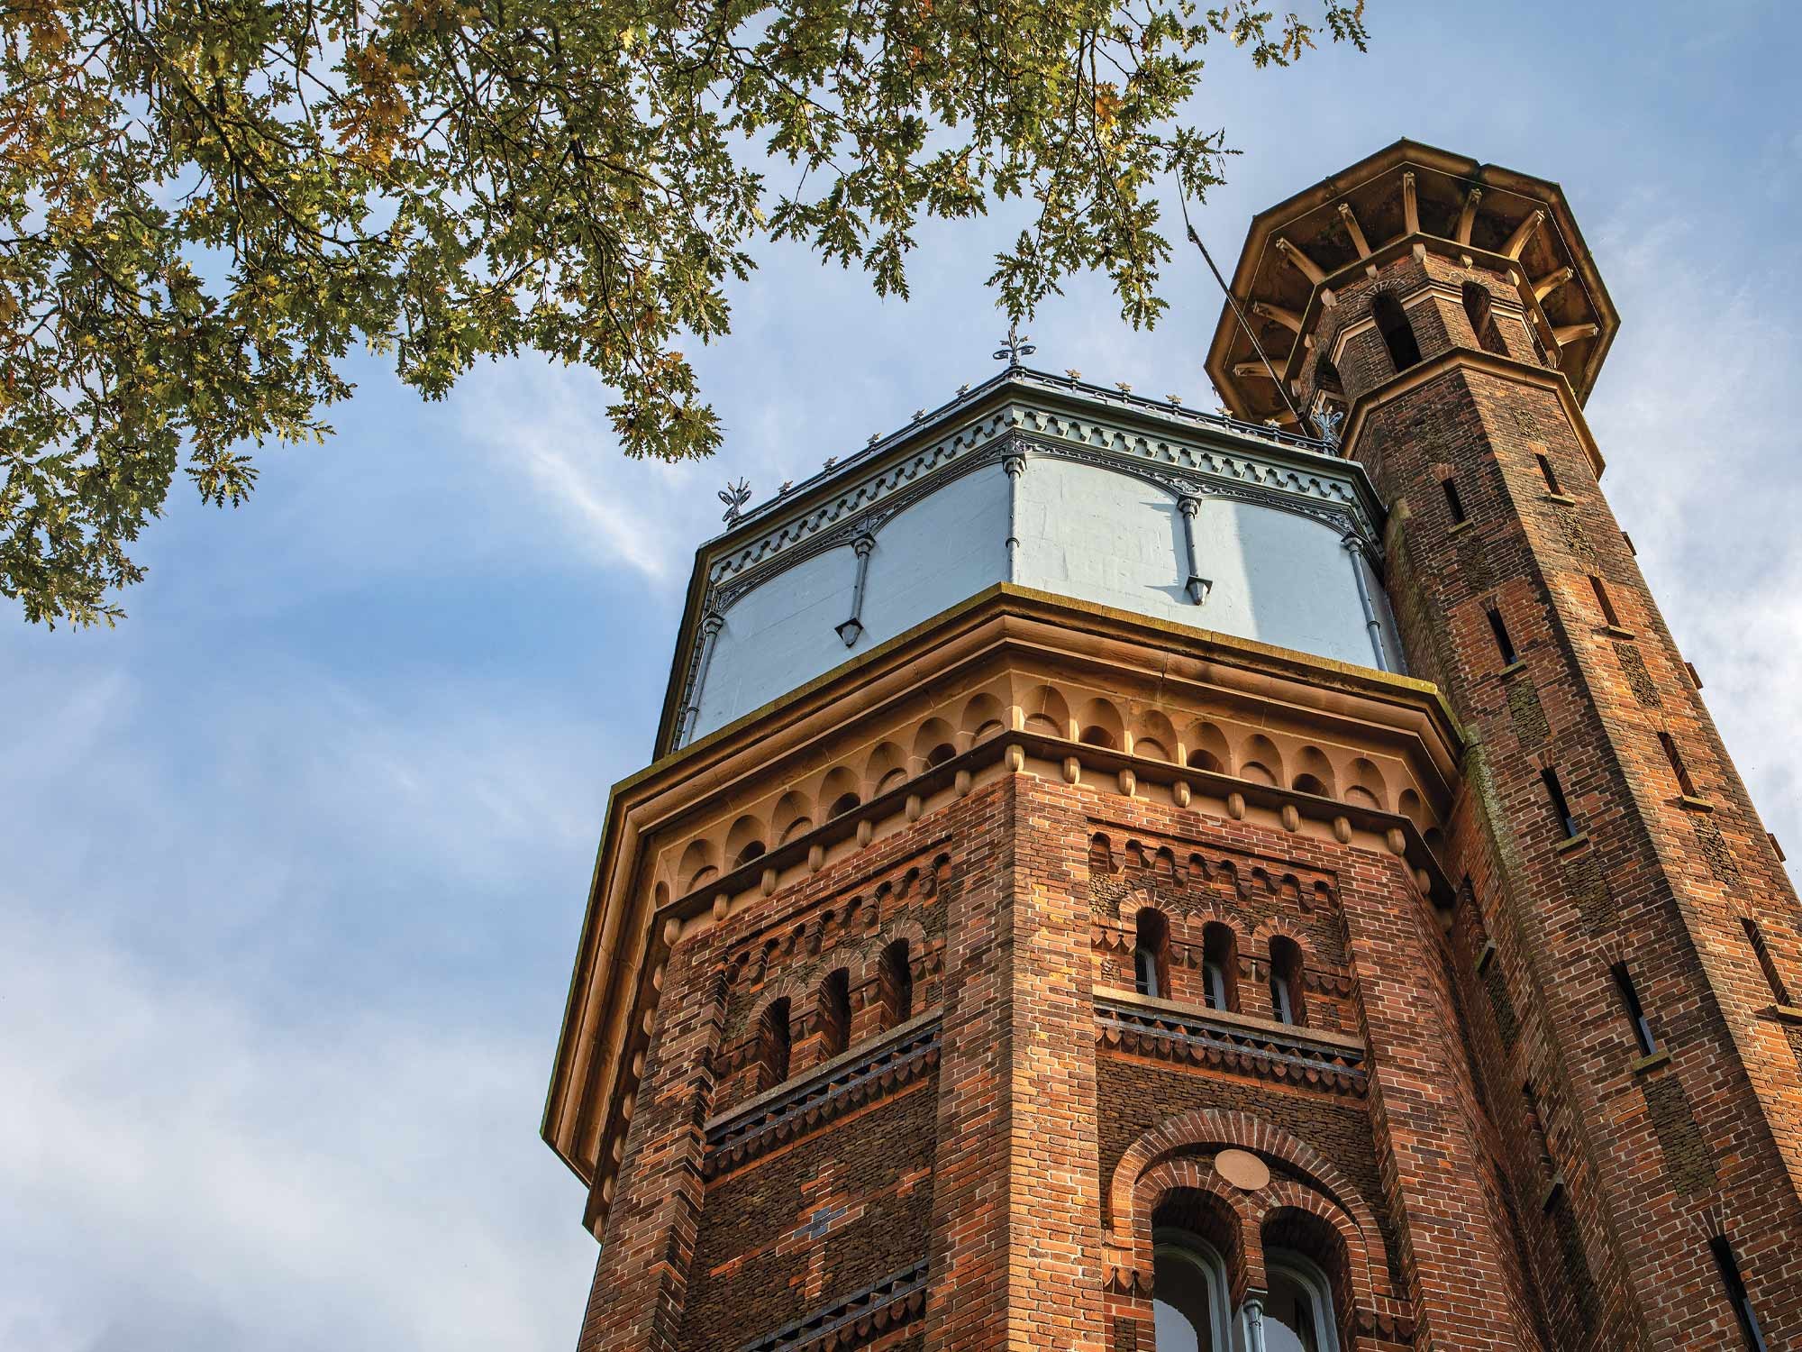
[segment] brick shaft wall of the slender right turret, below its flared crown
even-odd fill
[[[1418,270],[1409,260],[1371,285],[1406,290]],[[1362,290],[1341,296],[1335,324],[1355,323]],[[1449,341],[1474,346],[1467,324],[1429,326],[1425,364]],[[1339,370],[1353,398],[1393,375],[1373,333],[1352,339]],[[1470,880],[1458,970],[1559,1347],[1737,1347],[1706,1247],[1716,1233],[1737,1251],[1766,1341],[1802,1347],[1802,1089],[1741,927],[1753,918],[1793,964],[1802,910],[1571,415],[1528,371],[1452,362],[1371,407],[1350,452],[1393,505],[1389,588],[1413,669],[1476,743],[1447,856]],[[1568,501],[1550,494],[1539,454]],[[1631,447],[1616,472],[1634,472]],[[1447,474],[1469,525],[1451,521]],[[1521,669],[1501,671],[1485,607],[1503,615]],[[1679,799],[1660,732],[1705,802]],[[1561,849],[1546,766],[1588,836],[1579,845]],[[1478,973],[1485,943],[1496,955]],[[1636,1065],[1615,963],[1669,1060]],[[1543,1105],[1548,1168],[1523,1083]]]

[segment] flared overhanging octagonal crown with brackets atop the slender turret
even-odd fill
[[[1292,398],[1314,393],[1315,337],[1339,294],[1409,254],[1506,278],[1512,296],[1497,299],[1517,299],[1541,364],[1564,375],[1579,404],[1589,397],[1620,315],[1564,191],[1397,141],[1252,218],[1233,297]],[[1294,422],[1231,305],[1207,375],[1236,416]]]

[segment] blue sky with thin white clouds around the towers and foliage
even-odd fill
[[[1370,18],[1370,56],[1213,54],[1195,121],[1245,155],[1198,225],[1229,265],[1252,211],[1400,135],[1564,184],[1622,314],[1604,487],[1802,858],[1793,11]],[[699,359],[712,463],[623,461],[584,371],[420,404],[362,362],[337,438],[265,452],[249,507],[175,489],[123,627],[0,609],[0,1350],[575,1345],[595,1242],[539,1109],[714,492],[987,377],[1004,236],[923,231],[908,305],[771,254]],[[1135,333],[1072,281],[1036,362],[1211,406],[1189,251],[1166,296]]]

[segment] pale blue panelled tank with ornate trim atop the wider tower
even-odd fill
[[[1397,671],[1382,517],[1324,442],[1009,364],[728,514],[658,754],[997,584]]]

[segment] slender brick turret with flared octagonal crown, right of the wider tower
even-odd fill
[[[1802,910],[1598,485],[1616,317],[1564,193],[1404,141],[1261,213],[1234,296],[1344,415],[1470,739],[1440,858],[1555,1345],[1802,1347]],[[1224,308],[1209,375],[1281,418],[1252,353]]]

